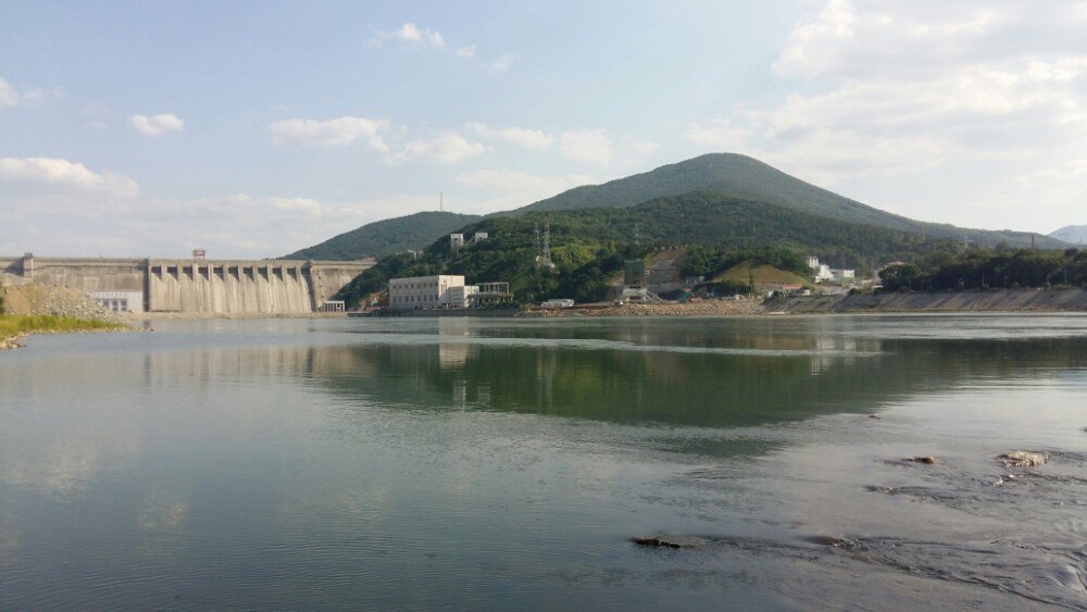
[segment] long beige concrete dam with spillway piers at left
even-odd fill
[[[0,272],[136,312],[304,314],[372,267],[358,261],[0,258]]]

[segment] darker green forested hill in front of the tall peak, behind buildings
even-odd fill
[[[555,268],[541,273],[535,265],[534,229],[542,229],[545,223],[551,229]],[[951,240],[924,239],[909,232],[833,221],[716,193],[659,198],[629,208],[489,217],[460,230],[487,232],[490,238],[454,253],[442,237],[422,257],[383,258],[345,288],[340,298],[358,303],[398,276],[463,274],[468,283],[508,280],[522,301],[549,297],[595,301],[603,298],[608,278],[622,268],[624,259],[642,258],[658,247],[680,243],[752,251],[772,246],[790,249],[796,257],[811,253],[862,270],[958,248]]]

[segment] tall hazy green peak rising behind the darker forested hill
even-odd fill
[[[914,221],[827,191],[759,160],[736,153],[711,153],[603,185],[575,187],[552,198],[497,215],[588,208],[625,208],[654,198],[692,191],[764,202],[810,215],[913,232],[930,238],[962,240],[965,237],[974,243],[990,247],[1000,242],[1017,247],[1030,246],[1030,234],[1025,232],[991,232]],[[1040,235],[1036,236],[1036,242],[1041,248],[1064,246]]]

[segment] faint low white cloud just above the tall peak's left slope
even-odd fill
[[[595,183],[586,174],[541,176],[515,170],[477,170],[460,173],[457,183],[486,191],[492,196],[477,201],[479,212],[518,208],[550,198],[573,187]]]

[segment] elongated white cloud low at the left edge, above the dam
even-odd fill
[[[91,172],[82,163],[59,158],[0,158],[0,182],[21,185],[30,191],[39,187],[74,189],[77,192],[132,197],[136,182],[112,172]]]

